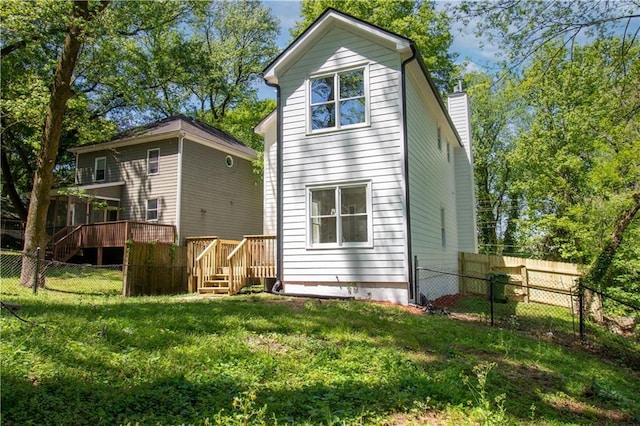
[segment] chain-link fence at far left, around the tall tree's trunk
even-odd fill
[[[24,271],[24,274],[23,274]],[[21,284],[21,280],[24,283]],[[74,296],[122,294],[122,265],[94,266],[40,260],[17,251],[0,252],[0,293]]]

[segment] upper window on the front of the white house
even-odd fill
[[[366,68],[309,80],[311,131],[342,129],[367,121]]]

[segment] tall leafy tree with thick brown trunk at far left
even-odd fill
[[[112,93],[128,92],[126,81],[120,81],[117,88],[112,86],[111,93],[104,90],[108,87],[102,79],[105,64],[120,57],[110,56],[103,44],[165,25],[183,9],[173,2],[41,0],[4,2],[0,10],[3,175],[20,177],[23,183],[29,172],[33,176],[24,243],[28,256],[21,276],[23,285],[31,285],[34,271],[29,262],[36,248],[44,248],[48,241],[46,217],[56,171],[62,176],[71,172],[58,162],[58,151],[65,147],[60,141],[78,142],[103,135],[104,123],[96,119],[123,98]],[[25,160],[27,173],[12,170],[11,159],[15,165],[15,157]],[[15,194],[16,182],[10,179]],[[8,186],[6,179],[3,183]]]

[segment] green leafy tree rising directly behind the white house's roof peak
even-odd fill
[[[410,38],[416,44],[441,92],[448,93],[456,81],[455,56],[449,52],[450,18],[436,11],[435,2],[418,0],[303,0],[302,20],[291,30],[304,31],[327,8],[363,19],[388,31]]]

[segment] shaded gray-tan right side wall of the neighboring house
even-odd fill
[[[184,141],[180,238],[262,233],[262,185],[251,161]]]

